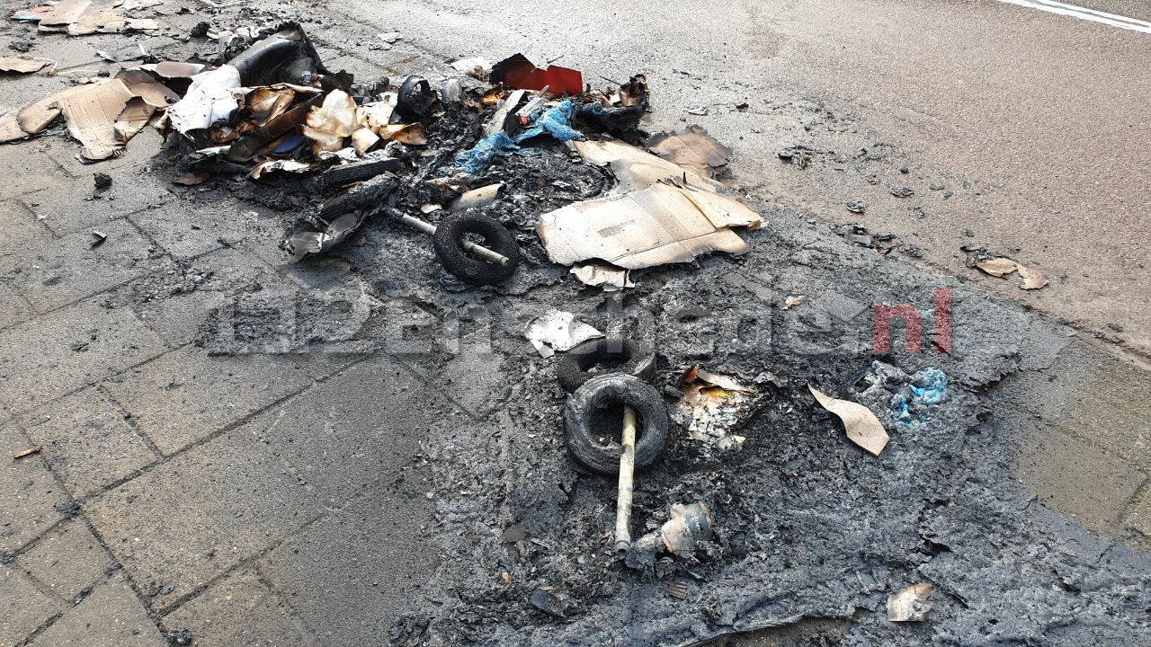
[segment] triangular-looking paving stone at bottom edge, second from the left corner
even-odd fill
[[[33,647],[167,647],[123,577],[97,586],[31,642]]]

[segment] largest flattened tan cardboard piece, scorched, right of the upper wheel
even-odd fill
[[[689,262],[710,252],[745,253],[731,228],[759,229],[763,219],[719,184],[619,142],[572,142],[588,161],[619,180],[605,198],[573,203],[540,216],[536,231],[562,265],[600,259],[624,269]]]

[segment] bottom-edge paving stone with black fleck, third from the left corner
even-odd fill
[[[186,629],[197,647],[315,647],[303,623],[254,571],[233,573],[163,618]]]

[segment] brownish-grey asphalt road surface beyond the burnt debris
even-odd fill
[[[1090,6],[1151,13],[1144,1]],[[894,233],[942,273],[1151,352],[1151,35],[993,0],[674,10],[352,0],[341,10],[444,56],[559,56],[593,83],[643,71],[653,128],[706,125],[734,149],[739,184],[816,219]],[[700,107],[708,114],[688,113]],[[775,154],[795,144],[826,154],[799,172]],[[915,196],[891,196],[904,187]],[[864,215],[844,208],[852,199]],[[973,243],[1051,284],[1024,292],[966,268],[959,248]]]

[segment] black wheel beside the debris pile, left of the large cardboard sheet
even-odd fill
[[[483,236],[483,246],[508,257],[508,265],[496,265],[468,256],[459,244],[465,234]],[[473,286],[502,283],[516,273],[516,266],[519,265],[516,237],[486,215],[458,213],[444,218],[436,226],[432,243],[443,268]]]

